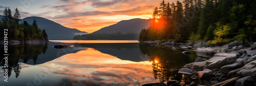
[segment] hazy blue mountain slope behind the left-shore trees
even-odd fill
[[[0,18],[2,19],[3,15],[0,15]],[[67,28],[52,20],[36,16],[23,18],[19,21],[19,24],[22,24],[26,20],[32,25],[34,19],[37,21],[38,28],[46,30],[49,40],[72,40],[76,34],[87,33],[77,29]]]

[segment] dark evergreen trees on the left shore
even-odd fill
[[[11,10],[5,8],[2,22],[0,21],[1,33],[4,33],[4,29],[8,29],[8,39],[9,40],[31,40],[31,39],[41,39],[44,38],[48,40],[48,35],[45,30],[41,30],[37,27],[36,20],[32,25],[28,24],[25,20],[22,24],[20,21],[19,10],[15,9],[15,14],[12,16]],[[4,39],[4,35],[0,36]]]

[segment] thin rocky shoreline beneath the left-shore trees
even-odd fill
[[[8,40],[8,45],[35,45],[40,44],[41,42],[50,42],[49,40],[34,39],[34,40]],[[4,45],[4,40],[0,40],[0,45]]]

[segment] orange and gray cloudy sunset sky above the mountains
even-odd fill
[[[165,2],[177,2],[165,0]],[[161,0],[1,0],[0,14],[5,7],[18,8],[22,18],[44,17],[68,28],[92,33],[120,20],[150,18]]]

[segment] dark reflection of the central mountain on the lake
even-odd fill
[[[102,53],[110,54],[122,60],[146,61],[139,50],[138,43],[124,44],[74,44],[76,47],[94,48]],[[141,58],[143,57],[143,58]]]

